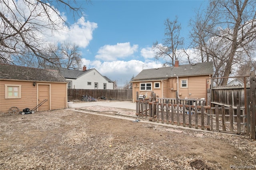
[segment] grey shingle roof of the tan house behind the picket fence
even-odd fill
[[[179,65],[179,67],[161,67],[154,69],[144,69],[133,81],[147,80],[147,79],[166,79],[168,77],[182,77],[182,76],[195,76],[195,75],[212,75],[213,62],[197,63]]]

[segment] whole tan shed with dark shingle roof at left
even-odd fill
[[[59,71],[0,64],[0,113],[11,107],[36,111],[67,107],[67,82]]]

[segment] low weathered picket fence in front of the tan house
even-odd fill
[[[189,128],[238,134],[246,132],[246,116],[244,108],[240,108],[240,106],[225,108],[224,105],[210,107],[179,104],[186,103],[185,100],[179,101],[178,104],[175,104],[177,103],[175,99],[165,99],[164,101],[173,101],[173,103],[159,103],[152,99],[138,100],[136,101],[136,115],[146,117],[152,122]],[[201,102],[205,103],[205,101],[199,101],[199,103]]]

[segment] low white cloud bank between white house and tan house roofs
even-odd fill
[[[143,65],[145,66],[144,69],[162,67],[161,63],[152,60],[148,60],[146,62],[139,60],[101,62],[99,60],[90,61],[82,59],[82,61],[88,69],[95,68],[102,75],[107,76],[112,81],[118,81],[118,86],[123,86],[126,81],[129,82],[133,75],[134,77],[138,75],[138,73],[142,71]]]

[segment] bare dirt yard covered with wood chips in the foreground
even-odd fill
[[[256,169],[256,141],[247,136],[100,115],[125,112],[133,111],[1,114],[0,169]]]

